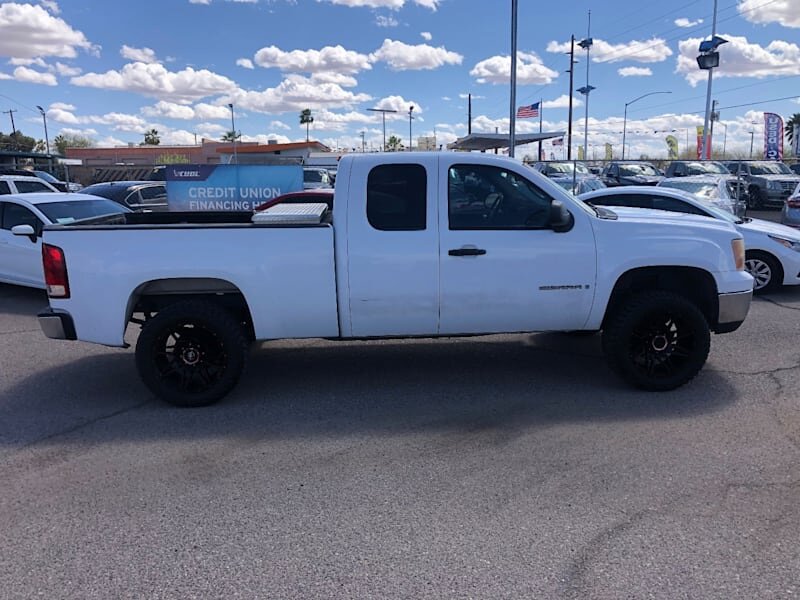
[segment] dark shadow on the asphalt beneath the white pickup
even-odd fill
[[[48,369],[4,396],[0,445],[8,448],[69,429],[76,431],[58,443],[420,430],[509,435],[563,422],[691,418],[735,402],[737,392],[710,370],[673,392],[635,390],[608,371],[599,336],[541,334],[268,343],[252,353],[234,392],[203,409],[154,400],[133,353],[120,351]],[[101,427],[79,429],[98,420]]]

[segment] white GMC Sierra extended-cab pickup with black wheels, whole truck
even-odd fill
[[[142,379],[182,406],[223,397],[248,345],[280,338],[602,330],[614,371],[670,390],[702,368],[711,331],[739,327],[752,297],[728,223],[617,215],[486,154],[346,156],[333,211],[317,216],[47,226],[39,322],[51,338],[120,347],[128,324],[141,325]]]

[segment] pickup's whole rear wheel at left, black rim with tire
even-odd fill
[[[168,306],[147,320],[136,343],[136,367],[156,396],[182,407],[208,406],[230,392],[244,369],[241,325],[211,302]]]

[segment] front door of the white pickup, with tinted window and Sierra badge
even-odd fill
[[[597,271],[590,216],[570,206],[574,226],[556,233],[553,197],[525,167],[468,160],[440,170],[439,332],[582,328]]]

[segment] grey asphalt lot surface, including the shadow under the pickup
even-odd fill
[[[0,285],[2,598],[790,598],[800,290],[695,382],[596,338],[270,343],[218,406]]]

